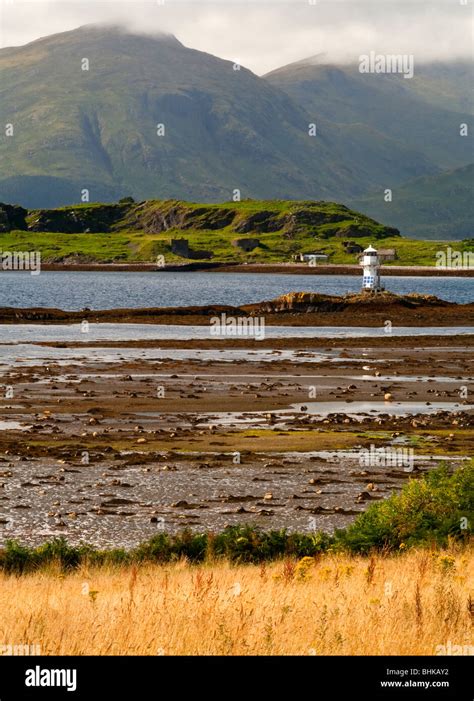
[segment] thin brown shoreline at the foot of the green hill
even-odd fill
[[[305,263],[212,263],[195,262],[158,267],[154,263],[43,263],[43,272],[111,272],[111,273],[260,273],[288,275],[360,275],[360,265],[317,265]],[[381,266],[381,274],[400,277],[474,277],[474,270],[443,269],[420,265]]]

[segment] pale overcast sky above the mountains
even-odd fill
[[[473,0],[0,0],[0,46],[93,22],[165,31],[186,46],[262,74],[325,53],[344,61],[408,53],[423,62],[472,57]]]

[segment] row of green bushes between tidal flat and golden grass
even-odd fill
[[[289,533],[282,528],[264,531],[251,525],[228,526],[220,533],[176,535],[159,533],[132,550],[98,550],[90,545],[71,546],[56,538],[37,548],[7,541],[0,550],[0,570],[22,574],[48,564],[63,570],[91,565],[129,565],[173,562],[186,558],[203,562],[226,558],[258,563],[283,557],[314,557],[327,550],[367,554],[419,545],[445,546],[449,539],[471,535],[474,519],[474,461],[450,474],[442,466],[421,479],[411,479],[400,494],[370,506],[350,526],[334,536],[321,531]]]

